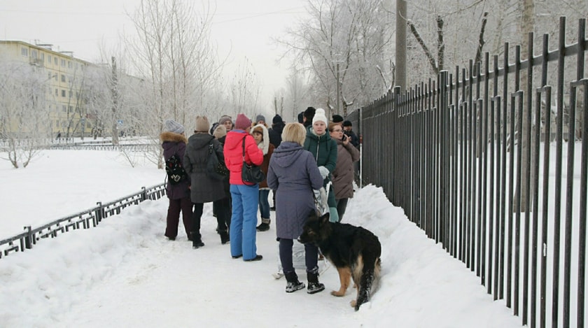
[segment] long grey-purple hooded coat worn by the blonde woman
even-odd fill
[[[267,185],[276,192],[276,235],[296,239],[314,211],[312,190],[323,187],[323,178],[312,154],[292,142],[282,142],[267,169]]]

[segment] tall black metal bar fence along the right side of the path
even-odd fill
[[[545,35],[536,54],[529,34],[528,59],[505,44],[500,59],[486,53],[349,115],[363,185],[383,187],[531,327],[585,327],[585,25],[567,45],[562,17],[556,50]]]

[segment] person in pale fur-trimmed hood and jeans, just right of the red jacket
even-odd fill
[[[269,142],[269,132],[265,124],[257,124],[251,129],[251,136],[255,139],[258,148],[263,152],[263,162],[260,165],[261,171],[267,177],[267,167],[269,166],[269,159],[274,153],[274,145]],[[261,223],[258,225],[258,231],[269,230],[269,187],[267,187],[267,178],[259,183],[259,211],[261,213]]]

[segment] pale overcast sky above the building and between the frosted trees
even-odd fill
[[[50,43],[53,50],[73,51],[74,57],[97,62],[99,44],[116,45],[121,33],[134,33],[126,13],[132,13],[138,3],[140,0],[1,0],[0,38]],[[272,97],[283,86],[287,73],[286,64],[276,63],[282,50],[270,38],[283,34],[304,15],[304,3],[306,0],[216,1],[212,36],[221,57],[231,52],[229,71],[247,57],[260,77],[265,97]]]

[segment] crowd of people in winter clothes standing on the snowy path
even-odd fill
[[[270,229],[270,211],[276,211],[286,292],[306,287],[294,269],[293,244],[309,215],[321,211],[316,206],[321,188],[328,194],[328,205],[322,211],[330,213],[331,222],[343,219],[347,202],[353,197],[354,163],[360,159],[359,138],[351,122],[340,115],[328,120],[322,108],[308,107],[298,115],[298,122],[286,123],[275,115],[271,126],[263,115],[257,115],[253,122],[242,113],[235,120],[223,115],[213,124],[208,117],[197,116],[193,134],[187,138],[185,132],[179,122],[166,120],[160,135],[166,164],[172,157],[179,157],[186,173],[186,178],[167,182],[165,236],[170,241],[176,239],[181,215],[193,248],[202,248],[203,208],[212,202],[216,232],[222,244],[230,243],[231,257],[259,261],[263,257],[258,254],[256,234]],[[211,157],[226,166],[225,178],[210,173]],[[253,184],[244,181],[245,164],[259,166],[264,180]],[[305,244],[304,252],[307,292],[321,292],[325,286],[318,282],[319,250]]]

